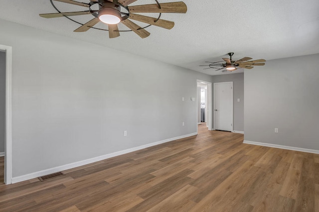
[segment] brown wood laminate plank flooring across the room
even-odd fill
[[[0,211],[319,212],[318,154],[243,144],[205,124],[198,132],[52,180],[1,184]]]

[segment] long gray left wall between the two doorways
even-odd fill
[[[197,131],[190,97],[197,96],[196,79],[211,76],[0,25],[1,44],[12,46],[13,177]]]

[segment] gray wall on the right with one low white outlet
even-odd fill
[[[245,140],[319,150],[318,61],[315,54],[245,70]]]

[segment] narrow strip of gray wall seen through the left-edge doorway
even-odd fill
[[[0,51],[0,152],[5,141],[5,52]]]

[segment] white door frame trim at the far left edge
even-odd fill
[[[12,47],[0,45],[5,52],[5,141],[4,141],[4,183],[12,183],[12,108],[11,108],[11,69]]]

